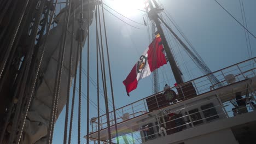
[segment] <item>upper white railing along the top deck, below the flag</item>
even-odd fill
[[[195,95],[201,95],[210,91],[214,91],[214,89],[220,88],[219,86],[228,86],[231,85],[232,83],[243,81],[246,79],[249,79],[251,77],[256,76],[256,68],[255,68],[255,63],[256,63],[256,57],[248,59],[247,61],[243,61],[234,65],[231,65],[229,67],[214,71],[212,74],[218,79],[218,83],[213,83],[210,79],[208,79],[208,75],[204,75],[201,77],[198,77],[197,79],[188,81],[183,83],[182,85],[174,86],[171,87],[176,94],[183,95],[183,97],[179,97],[178,99],[172,101],[171,104],[175,104],[179,101],[184,101],[185,99],[195,97]],[[227,75],[231,75],[233,81],[227,79]],[[192,83],[193,87],[195,89],[194,93],[188,93],[191,91],[191,89],[187,89],[187,91],[182,91],[182,93],[178,93],[177,88],[178,87],[183,87],[183,89],[188,88],[187,84]],[[156,93],[154,95],[151,95],[147,98],[135,101],[134,103],[131,103],[129,105],[120,107],[119,109],[115,110],[117,114],[117,123],[121,123],[127,120],[127,118],[123,118],[125,113],[129,113],[129,119],[134,118],[139,116],[140,113],[139,111],[146,111],[150,112],[149,107],[151,106],[152,109],[157,110],[161,109],[162,107],[167,106],[166,104],[163,103],[163,99],[158,99],[158,95],[163,93],[165,91],[161,91],[159,93]],[[194,96],[193,96],[194,95]],[[150,104],[150,98],[154,98],[155,100],[153,101],[154,103]],[[153,106],[153,107],[152,107]],[[142,115],[142,114],[140,114]],[[110,125],[114,125],[114,115],[113,111],[109,112],[110,116]],[[102,129],[107,128],[107,118],[106,114],[100,116],[100,124]],[[92,132],[97,131],[96,125],[92,127]]]

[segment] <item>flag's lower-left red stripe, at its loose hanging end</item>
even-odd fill
[[[127,93],[130,93],[133,89],[137,87],[138,81],[136,77],[137,77],[137,73],[136,73],[136,64],[135,64],[130,74],[123,81]]]

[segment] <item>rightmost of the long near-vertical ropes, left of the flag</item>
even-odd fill
[[[103,0],[102,0],[102,1],[103,1]],[[115,136],[117,137],[117,143],[119,144],[118,128],[117,128],[117,116],[115,115],[114,92],[113,92],[113,83],[112,83],[112,76],[111,76],[111,70],[110,70],[110,61],[109,61],[109,52],[108,52],[108,40],[107,40],[107,30],[106,30],[106,22],[105,22],[105,17],[104,17],[103,5],[102,5],[102,17],[103,17],[103,25],[104,25],[104,33],[105,33],[105,41],[106,41],[106,49],[107,49],[109,81],[110,81],[110,88],[111,88],[111,95],[112,95],[112,102],[113,102],[113,113],[114,113],[114,122],[115,122]]]

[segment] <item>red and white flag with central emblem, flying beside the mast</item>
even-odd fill
[[[139,57],[138,62],[133,66],[130,74],[123,81],[127,95],[138,85],[138,81],[149,76],[155,69],[166,64],[165,51],[162,46],[160,35],[155,39]]]

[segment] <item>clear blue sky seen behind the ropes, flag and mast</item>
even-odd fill
[[[115,2],[118,0],[105,0],[104,2],[110,7],[118,10]],[[159,0],[164,5],[165,11],[169,13],[176,21],[178,26],[184,32],[189,41],[193,44],[196,51],[200,54],[202,59],[206,62],[212,71],[227,67],[249,58],[245,31],[244,29],[232,19],[222,8],[213,0]],[[242,15],[239,5],[239,0],[218,0],[223,6],[234,15],[238,21],[242,22]],[[245,7],[245,14],[249,31],[256,35],[256,1],[243,1]],[[119,5],[119,7],[126,7],[126,5]],[[143,7],[141,8],[143,9]],[[132,20],[143,23],[143,13],[138,10],[131,9],[132,14],[126,14]],[[119,11],[122,13],[122,11]],[[113,12],[114,13],[114,12]],[[135,29],[121,22],[116,17],[110,15],[105,11],[106,26],[108,35],[109,55],[111,62],[111,71],[113,77],[113,88],[115,106],[121,107],[133,101],[145,98],[152,94],[152,76],[146,77],[139,81],[137,89],[130,93],[127,97],[123,80],[130,73],[133,65],[137,61],[139,55],[149,45],[149,38],[147,27],[138,25],[129,20],[131,25],[142,28]],[[121,17],[121,16],[119,16]],[[171,26],[173,28],[173,26]],[[174,28],[173,28],[174,29]],[[176,31],[176,29],[174,29]],[[177,32],[177,31],[176,31]],[[90,27],[90,77],[96,82],[96,34],[95,22]],[[252,56],[256,56],[256,40],[249,35],[252,46]],[[201,76],[202,73],[196,68],[196,65],[191,63],[191,60],[183,50],[178,50],[178,47],[173,45],[174,55],[181,65],[181,69],[185,75],[185,80],[189,77]],[[83,68],[86,70],[86,56],[87,44],[83,50]],[[189,70],[186,70],[188,67]],[[190,76],[189,76],[190,74]],[[107,73],[108,75],[108,73]],[[166,81],[166,82],[165,82]],[[173,85],[175,83],[169,65],[159,69],[159,86],[160,90],[165,83]],[[83,93],[86,94],[86,76],[83,75]],[[110,87],[108,80],[108,97],[110,99]],[[101,88],[102,89],[102,88]],[[71,91],[72,92],[72,91]],[[90,83],[90,99],[97,103],[96,88]],[[77,97],[78,95],[76,95]],[[105,111],[104,100],[101,97],[101,110]],[[78,98],[76,99],[78,101]],[[77,143],[77,117],[78,105],[75,103],[74,123],[72,131],[72,143]],[[112,110],[112,106],[110,106]],[[90,105],[90,118],[97,117],[97,110]],[[103,113],[103,112],[102,112]],[[55,125],[54,141],[53,143],[63,143],[63,130],[65,122],[65,108],[63,109],[59,119]],[[86,135],[86,99],[82,98],[82,127],[81,136]],[[86,140],[81,138],[82,143]]]

